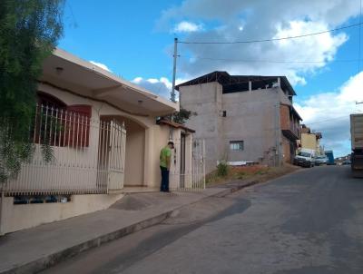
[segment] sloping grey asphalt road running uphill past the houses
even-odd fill
[[[211,198],[44,273],[363,273],[363,179],[304,169]]]

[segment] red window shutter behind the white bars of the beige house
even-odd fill
[[[88,104],[73,104],[67,108],[65,144],[70,147],[88,147],[90,145],[90,130],[92,106]]]

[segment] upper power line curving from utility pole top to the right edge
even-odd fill
[[[280,38],[270,38],[270,39],[261,39],[261,40],[245,40],[245,41],[234,41],[234,42],[201,42],[201,41],[178,41],[179,44],[251,44],[251,43],[263,43],[263,42],[273,42],[273,41],[281,41],[281,40],[289,40],[289,39],[296,39],[296,38],[302,38],[302,37],[308,37],[313,35],[319,35],[319,34],[327,34],[332,32],[341,31],[344,29],[348,29],[355,26],[360,26],[362,23],[359,22],[358,24],[348,24],[345,26],[337,27],[334,29],[329,29],[326,31],[321,31],[317,33],[310,33],[310,34],[301,34],[301,35],[295,35],[295,36],[288,36],[288,37],[280,37]]]

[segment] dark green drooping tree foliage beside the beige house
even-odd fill
[[[0,183],[34,152],[29,127],[37,79],[63,33],[63,10],[64,0],[0,1]]]

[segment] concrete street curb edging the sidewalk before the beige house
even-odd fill
[[[188,204],[184,204],[184,205],[179,206],[179,207],[177,207],[177,208],[175,208],[173,210],[168,210],[168,211],[163,212],[163,213],[161,213],[159,215],[153,216],[153,217],[151,217],[151,218],[149,218],[147,220],[141,220],[141,221],[139,221],[137,223],[134,223],[134,224],[129,225],[127,227],[123,227],[123,228],[121,228],[119,230],[115,230],[115,231],[109,232],[107,234],[97,236],[97,237],[93,238],[92,240],[86,240],[83,243],[74,245],[73,247],[57,251],[57,252],[55,252],[53,254],[44,255],[43,258],[34,259],[34,261],[25,263],[23,265],[15,265],[11,269],[0,269],[0,274],[38,273],[39,271],[42,271],[44,269],[48,269],[50,267],[53,267],[55,264],[65,260],[65,259],[70,259],[70,258],[78,255],[79,253],[83,252],[83,251],[91,250],[93,248],[100,247],[102,244],[107,243],[109,241],[121,239],[124,236],[132,234],[134,232],[144,230],[144,229],[150,228],[150,227],[152,227],[152,226],[154,226],[156,224],[159,224],[163,220],[166,220],[169,217],[171,217],[171,215],[172,215],[172,213],[174,211],[181,210],[185,206],[189,206],[189,205],[191,205],[193,203],[202,201],[202,200],[204,200],[206,198],[209,198],[209,197],[222,197],[222,196],[220,196],[221,194],[223,196],[226,196],[226,195],[230,194],[233,191],[237,191],[237,190],[229,188],[227,190],[223,190],[223,191],[220,191],[220,192],[212,194],[212,195],[207,195],[207,196],[201,198],[201,200],[193,201],[193,202],[188,203]],[[225,194],[223,194],[223,193],[225,193]]]

